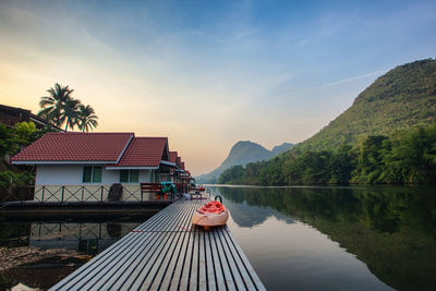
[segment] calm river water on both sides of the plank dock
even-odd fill
[[[229,228],[268,290],[436,290],[435,187],[210,191],[222,196]],[[2,222],[0,252],[48,254],[0,266],[0,289],[47,289],[145,220]],[[57,248],[73,253],[50,253]]]

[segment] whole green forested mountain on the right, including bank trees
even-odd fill
[[[268,161],[226,170],[219,183],[436,183],[436,61],[377,78],[320,132]]]

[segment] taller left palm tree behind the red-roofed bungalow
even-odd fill
[[[56,83],[55,87],[47,90],[49,96],[41,97],[39,106],[43,109],[38,112],[38,116],[60,128],[65,120],[65,116],[62,114],[63,108],[65,102],[72,99],[71,94],[73,92],[69,86]]]

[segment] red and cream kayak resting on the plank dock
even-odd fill
[[[199,207],[192,216],[192,223],[204,227],[223,226],[229,219],[229,210],[218,201],[209,202]]]

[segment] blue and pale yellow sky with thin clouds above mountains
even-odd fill
[[[435,32],[436,1],[0,0],[0,104],[69,85],[96,132],[168,136],[198,175],[311,137]]]

